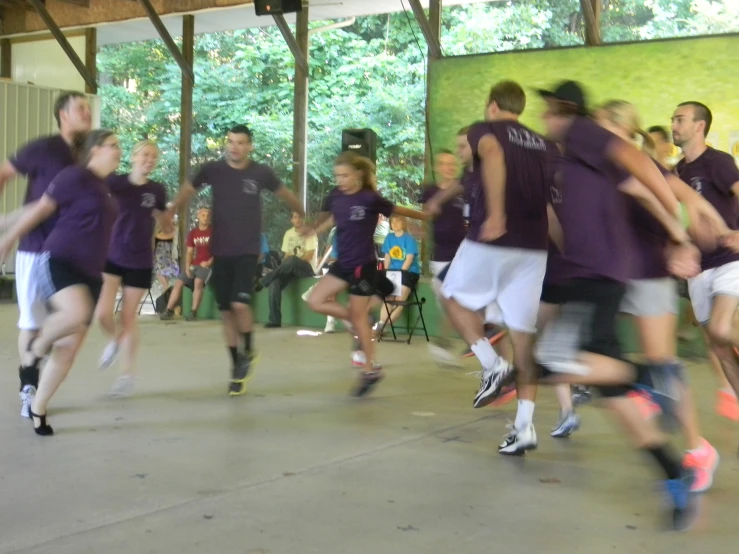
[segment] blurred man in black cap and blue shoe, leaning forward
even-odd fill
[[[632,278],[634,251],[627,194],[642,199],[664,222],[675,243],[673,273],[694,274],[695,248],[688,244],[677,216],[679,204],[659,169],[635,146],[585,117],[585,95],[577,83],[568,81],[540,94],[547,101],[548,132],[564,150],[557,215],[570,266],[564,304],[536,347],[542,379],[599,387],[633,440],[662,467],[673,503],[672,527],[685,529],[697,512],[690,492],[692,472],[683,469],[681,457],[656,423],[645,420],[626,396],[639,386],[667,406],[675,383],[664,367],[631,364],[621,357],[615,322]]]

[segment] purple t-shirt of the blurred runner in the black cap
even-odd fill
[[[562,203],[557,216],[564,232],[564,255],[573,279],[634,276],[633,229],[623,182],[606,152],[621,140],[595,122],[578,117],[564,140]]]

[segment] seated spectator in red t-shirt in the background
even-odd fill
[[[185,254],[185,273],[177,277],[167,302],[167,310],[161,319],[169,320],[174,317],[174,308],[182,296],[182,287],[192,290],[192,311],[185,317],[187,321],[198,318],[198,308],[203,299],[203,291],[208,283],[213,265],[213,256],[210,253],[210,237],[213,229],[210,226],[210,210],[198,210],[198,226],[187,235],[187,252]]]

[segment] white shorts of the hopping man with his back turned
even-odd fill
[[[449,267],[441,293],[468,310],[485,309],[488,323],[535,333],[546,268],[545,251],[503,248],[465,239]]]

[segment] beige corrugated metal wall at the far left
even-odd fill
[[[54,101],[58,89],[0,81],[0,158],[2,163],[28,141],[58,132],[54,120]],[[93,125],[100,121],[100,103],[90,96]],[[0,213],[10,213],[23,205],[25,178],[13,179],[0,194]],[[7,273],[13,273],[15,254],[5,262]]]

